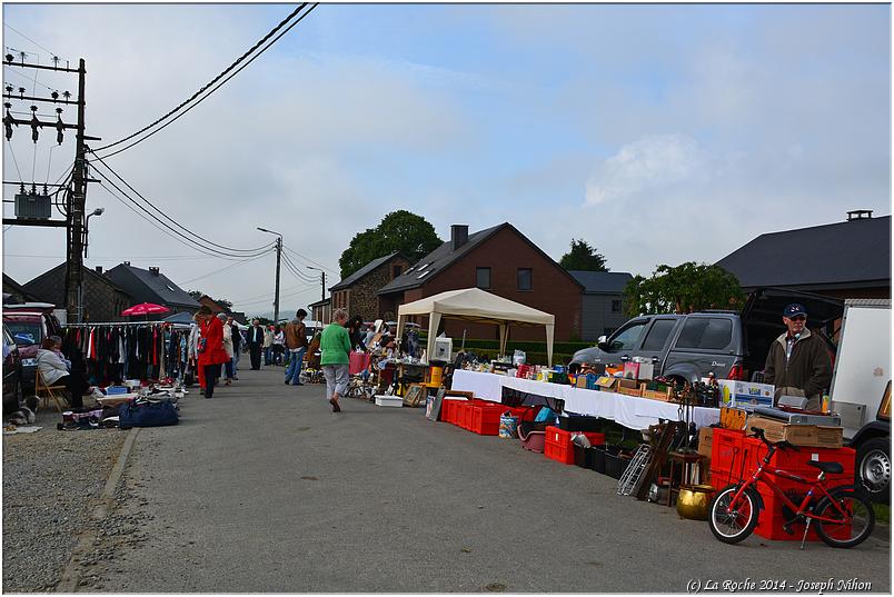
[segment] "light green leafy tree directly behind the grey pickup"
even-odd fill
[[[627,315],[688,314],[703,309],[737,309],[745,296],[738,279],[718,266],[687,261],[660,265],[650,278],[636,276],[624,289]]]

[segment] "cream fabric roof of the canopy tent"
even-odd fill
[[[517,321],[539,326],[552,326],[556,317],[533,309],[520,302],[486,292],[480,288],[448,290],[439,295],[426,297],[414,302],[401,305],[399,316],[440,314],[448,318],[467,319],[485,324]]]

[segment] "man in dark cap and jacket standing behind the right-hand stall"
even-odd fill
[[[820,410],[823,390],[832,381],[832,358],[820,336],[807,329],[807,311],[793,302],[783,311],[788,328],[769,347],[764,381],[776,386],[774,404],[781,396],[804,396],[808,410]]]

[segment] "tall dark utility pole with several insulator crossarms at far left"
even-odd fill
[[[57,72],[69,72],[78,74],[78,98],[70,100],[70,93],[66,91],[62,93],[63,99],[60,99],[59,93],[53,91],[51,98],[26,97],[24,88],[19,88],[19,94],[13,96],[12,86],[7,86],[4,89],[3,98],[6,100],[28,100],[36,102],[47,102],[62,106],[74,105],[78,107],[78,122],[76,125],[67,125],[62,122],[62,109],[57,108],[56,112],[59,115],[56,122],[42,121],[37,118],[37,106],[31,107],[34,113],[30,120],[13,118],[10,113],[11,103],[4,103],[7,108],[3,125],[6,127],[7,140],[12,138],[12,127],[20,125],[30,127],[32,130],[31,139],[38,141],[38,129],[49,128],[57,130],[57,142],[62,143],[62,135],[67,129],[74,129],[76,131],[76,149],[74,149],[74,166],[72,168],[72,185],[66,190],[66,220],[48,220],[48,219],[23,219],[23,218],[3,218],[4,225],[12,226],[50,226],[50,227],[66,227],[66,282],[64,282],[64,297],[66,297],[66,314],[69,321],[81,321],[80,312],[80,296],[82,292],[81,285],[83,282],[83,229],[85,229],[85,206],[87,203],[87,183],[93,182],[89,178],[87,171],[87,145],[86,141],[100,141],[99,137],[88,137],[85,135],[85,108],[87,100],[85,98],[86,80],[87,80],[87,66],[81,58],[78,63],[78,69],[71,69],[66,63],[66,67],[59,67],[58,60],[54,60],[52,67],[44,64],[30,64],[24,62],[24,54],[22,54],[21,62],[14,62],[12,54],[6,54],[7,67],[31,68],[36,70],[53,70]],[[6,183],[6,182],[4,182]],[[23,181],[22,181],[23,183]],[[23,187],[22,187],[23,188]],[[32,183],[33,188],[33,183]],[[44,191],[46,192],[46,191]]]

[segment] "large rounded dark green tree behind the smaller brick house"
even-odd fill
[[[393,211],[376,228],[367,228],[354,235],[338,260],[341,278],[347,278],[374,259],[395,251],[400,251],[410,262],[416,262],[441,242],[444,241],[435,233],[435,227],[421,216],[405,209]]]

